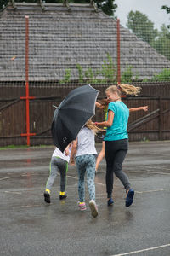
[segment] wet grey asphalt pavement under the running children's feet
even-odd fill
[[[97,144],[99,149],[101,144]],[[51,204],[43,201],[53,147],[0,150],[0,254],[3,256],[170,255],[170,142],[130,143],[123,170],[135,189],[125,207],[115,178],[107,207],[105,160],[95,177],[98,218],[77,208],[77,171],[70,166],[67,199],[59,201],[59,176]],[[86,189],[88,205],[88,189]]]

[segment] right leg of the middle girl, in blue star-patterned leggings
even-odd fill
[[[95,184],[94,184],[94,176],[95,176],[95,155],[94,154],[87,154],[84,155],[87,161],[87,183],[88,183],[88,193],[90,200],[95,201]]]

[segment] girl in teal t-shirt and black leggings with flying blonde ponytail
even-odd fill
[[[121,86],[122,85],[122,86]],[[126,86],[127,85],[127,90]],[[119,84],[123,92],[127,94],[137,95],[139,87],[128,84]],[[130,93],[129,93],[130,90]],[[121,90],[116,85],[112,85],[105,90],[107,100],[110,102],[108,106],[108,118],[104,122],[97,122],[96,125],[106,126],[105,134],[105,160],[106,160],[106,191],[108,198],[108,206],[114,201],[112,199],[114,174],[118,177],[124,188],[126,189],[126,207],[133,203],[134,190],[131,188],[127,174],[122,172],[122,163],[125,159],[128,149],[127,122],[129,117],[129,109],[121,101]]]

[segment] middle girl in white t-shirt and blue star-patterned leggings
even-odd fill
[[[92,120],[79,132],[76,141],[73,142],[72,152],[76,154],[77,171],[78,171],[78,195],[79,195],[79,208],[81,211],[86,210],[85,204],[85,183],[84,177],[87,172],[88,193],[90,197],[89,207],[92,216],[97,217],[98,208],[95,203],[95,160],[97,151],[95,148],[94,135],[97,131],[101,131]],[[76,153],[77,151],[77,153]]]

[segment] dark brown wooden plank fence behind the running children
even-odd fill
[[[149,111],[130,113],[128,133],[129,141],[168,140],[170,138],[170,84],[140,84],[142,93],[138,97],[122,98],[128,108],[148,105]],[[100,91],[99,97],[105,97],[108,85],[95,84]],[[77,85],[30,86],[30,131],[31,145],[53,144],[51,122],[54,115],[53,105],[59,105],[68,92]],[[20,97],[26,95],[25,86],[5,86],[0,84],[0,146],[26,145],[26,101]],[[94,120],[103,120],[104,113],[96,109]]]

